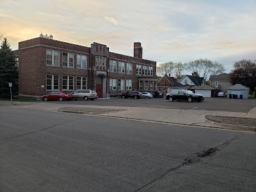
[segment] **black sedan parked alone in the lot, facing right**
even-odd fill
[[[201,102],[201,100],[204,100],[204,96],[189,92],[187,90],[181,90],[168,93],[166,95],[166,99],[168,99],[170,102],[172,102],[173,100],[188,100],[188,102]]]

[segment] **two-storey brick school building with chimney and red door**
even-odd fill
[[[142,59],[140,42],[134,56],[40,36],[19,42],[19,95],[44,95],[53,90],[96,90],[99,97],[118,96],[127,90],[157,90],[156,61]]]

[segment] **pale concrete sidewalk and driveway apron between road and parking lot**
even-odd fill
[[[255,127],[229,125],[207,120],[205,116],[229,116],[237,118],[253,118],[256,122],[256,108],[248,113],[237,113],[227,111],[203,111],[188,109],[161,109],[161,108],[134,108],[122,106],[93,106],[93,105],[72,105],[61,102],[10,102],[0,101],[0,106],[22,109],[34,109],[42,111],[62,111],[68,113],[79,113],[93,116],[106,116],[109,118],[125,118],[157,122],[162,124],[181,124],[200,127],[214,127],[221,129],[233,129],[239,131],[256,132]],[[256,124],[256,123],[255,123]]]

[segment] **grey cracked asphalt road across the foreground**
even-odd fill
[[[0,191],[255,191],[256,135],[0,107]]]

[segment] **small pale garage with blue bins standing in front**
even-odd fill
[[[229,99],[248,99],[249,88],[242,84],[234,84],[227,88],[227,96]]]

